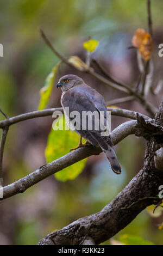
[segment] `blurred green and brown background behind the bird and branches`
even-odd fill
[[[99,40],[93,58],[121,81],[136,83],[136,51],[128,50],[128,46],[137,28],[147,30],[146,0],[1,0],[0,5],[0,43],[4,47],[4,57],[0,57],[0,108],[10,117],[37,109],[39,90],[59,62],[43,42],[39,28],[65,56],[78,55],[83,60],[83,42],[89,36]],[[163,76],[162,59],[158,57],[158,44],[163,42],[162,11],[162,1],[153,0],[154,86]],[[65,65],[60,66],[55,84],[65,74],[82,76],[106,101],[123,96]],[[60,107],[60,95],[54,85],[48,107]],[[158,106],[161,97],[162,93],[149,95],[149,100]],[[146,113],[136,102],[118,106]],[[112,117],[112,129],[126,120]],[[52,121],[52,117],[37,118],[10,127],[4,152],[4,185],[46,163],[45,148]],[[34,245],[46,234],[101,210],[141,169],[145,145],[144,139],[129,136],[115,147],[122,165],[120,176],[111,172],[103,154],[91,156],[76,179],[61,182],[50,176],[23,194],[1,202],[0,244]],[[158,229],[162,221],[161,213],[153,217],[144,210],[114,239],[128,234],[162,245],[163,233]]]

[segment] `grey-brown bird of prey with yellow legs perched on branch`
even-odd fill
[[[67,125],[71,130],[76,131],[78,135],[80,135],[79,144],[76,148],[82,147],[83,145],[87,145],[87,143],[91,143],[95,147],[101,147],[106,157],[108,158],[112,170],[116,174],[121,173],[121,166],[118,163],[117,156],[115,154],[113,144],[111,142],[110,136],[102,136],[101,127],[99,130],[95,129],[95,118],[92,117],[92,127],[89,129],[87,123],[85,125],[85,129],[83,129],[82,122],[78,122],[78,125],[74,126],[71,121],[72,117],[70,117],[71,112],[78,111],[81,114],[82,121],[82,113],[83,112],[103,112],[104,113],[104,121],[106,121],[106,103],[101,94],[99,94],[95,89],[87,86],[82,78],[76,75],[65,75],[60,78],[57,83],[57,88],[61,87],[62,95],[61,95],[61,105],[64,109],[65,119]],[[69,108],[69,112],[65,111],[66,107]],[[99,121],[96,119],[96,123]],[[71,123],[71,124],[70,124]],[[82,144],[82,137],[86,139],[85,144]],[[71,150],[74,150],[71,149]]]

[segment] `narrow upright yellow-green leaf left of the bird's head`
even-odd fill
[[[57,72],[59,64],[60,63],[58,63],[52,69],[51,73],[46,78],[45,86],[42,87],[40,90],[40,102],[39,102],[38,110],[44,109],[49,101],[49,97],[51,96],[52,90],[53,90],[55,74]]]

